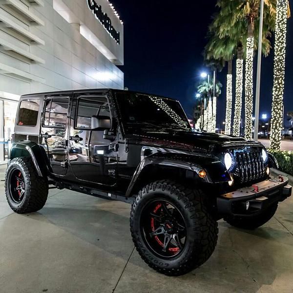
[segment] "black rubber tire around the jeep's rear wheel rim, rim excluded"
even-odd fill
[[[21,171],[24,181],[24,196],[20,203],[12,199],[9,180],[12,172]],[[8,204],[16,213],[24,214],[38,211],[43,208],[48,197],[48,182],[38,176],[30,158],[20,157],[11,160],[5,174],[5,194]]]

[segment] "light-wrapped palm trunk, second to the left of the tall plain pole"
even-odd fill
[[[236,60],[236,95],[235,110],[233,122],[233,135],[240,136],[240,123],[242,111],[242,94],[243,94],[243,47],[238,45]]]

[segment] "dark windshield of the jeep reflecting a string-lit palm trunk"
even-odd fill
[[[136,93],[116,93],[125,133],[191,130],[179,102]]]

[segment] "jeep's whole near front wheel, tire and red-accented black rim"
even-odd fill
[[[203,192],[171,181],[153,182],[139,191],[130,230],[143,260],[173,276],[206,262],[218,238],[217,222],[204,205]]]

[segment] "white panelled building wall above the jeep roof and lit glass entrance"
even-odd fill
[[[31,3],[33,1],[35,3]],[[21,95],[82,88],[123,88],[124,74],[115,65],[123,64],[123,24],[114,13],[111,15],[107,0],[96,2],[120,31],[120,45],[92,14],[87,0],[63,0],[75,16],[73,24],[54,10],[53,0],[1,1],[4,4],[0,5],[0,21],[5,22],[0,23],[0,91]],[[33,13],[44,25],[31,25],[14,5],[21,5],[21,9]],[[15,26],[13,29],[7,28],[10,22]],[[106,58],[107,54],[102,54],[80,34],[83,24],[115,60]],[[30,42],[31,39],[39,44]]]

